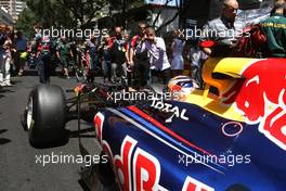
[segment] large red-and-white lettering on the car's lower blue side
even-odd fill
[[[109,148],[107,141],[103,140],[104,148]],[[139,148],[138,141],[126,136],[120,154],[113,156],[110,150],[105,150],[112,156],[114,171],[118,178],[120,189],[123,191],[168,191],[159,184],[161,166],[159,161],[151,153]],[[212,191],[213,189],[192,177],[186,177],[183,191]]]

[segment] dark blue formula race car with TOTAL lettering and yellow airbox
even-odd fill
[[[109,174],[102,177],[119,190],[282,191],[285,62],[210,58],[203,66],[204,89],[178,76],[164,91],[171,99],[120,104],[106,101],[113,91],[107,87],[76,88],[78,97],[67,101],[58,87],[37,87],[26,110],[29,139],[34,144],[58,142],[68,119],[91,114],[109,162]],[[82,113],[69,111],[84,101]]]

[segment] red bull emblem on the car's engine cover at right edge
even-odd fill
[[[286,150],[286,60],[260,60],[242,75],[223,102],[235,102],[248,124],[259,124],[260,132]]]

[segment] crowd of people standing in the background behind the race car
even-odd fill
[[[264,47],[264,56],[286,58],[285,4],[285,0],[276,0],[272,15],[259,25],[265,36],[264,46],[261,46]],[[167,84],[186,68],[188,75],[203,82],[200,68],[208,56],[237,56],[238,48],[245,46],[239,44],[243,34],[233,33],[243,31],[246,27],[246,23],[236,21],[237,10],[236,0],[224,0],[221,16],[207,22],[202,38],[185,39],[179,30],[174,30],[172,40],[168,42],[156,36],[156,30],[144,22],[139,22],[139,33],[133,37],[130,33],[122,33],[120,26],[115,26],[108,35],[91,35],[88,40],[79,42],[70,42],[65,36],[58,39],[41,36],[37,33],[40,29],[38,26],[29,42],[21,31],[2,31],[0,86],[11,86],[11,73],[22,76],[26,61],[28,65],[36,63],[41,84],[50,82],[57,64],[66,78],[69,78],[69,66],[77,65],[73,68],[83,71],[87,81],[93,81],[100,74],[98,71],[101,71],[104,82],[121,82],[134,89],[152,82]],[[216,36],[207,34],[210,31],[217,31]],[[213,43],[204,43],[209,40]]]

